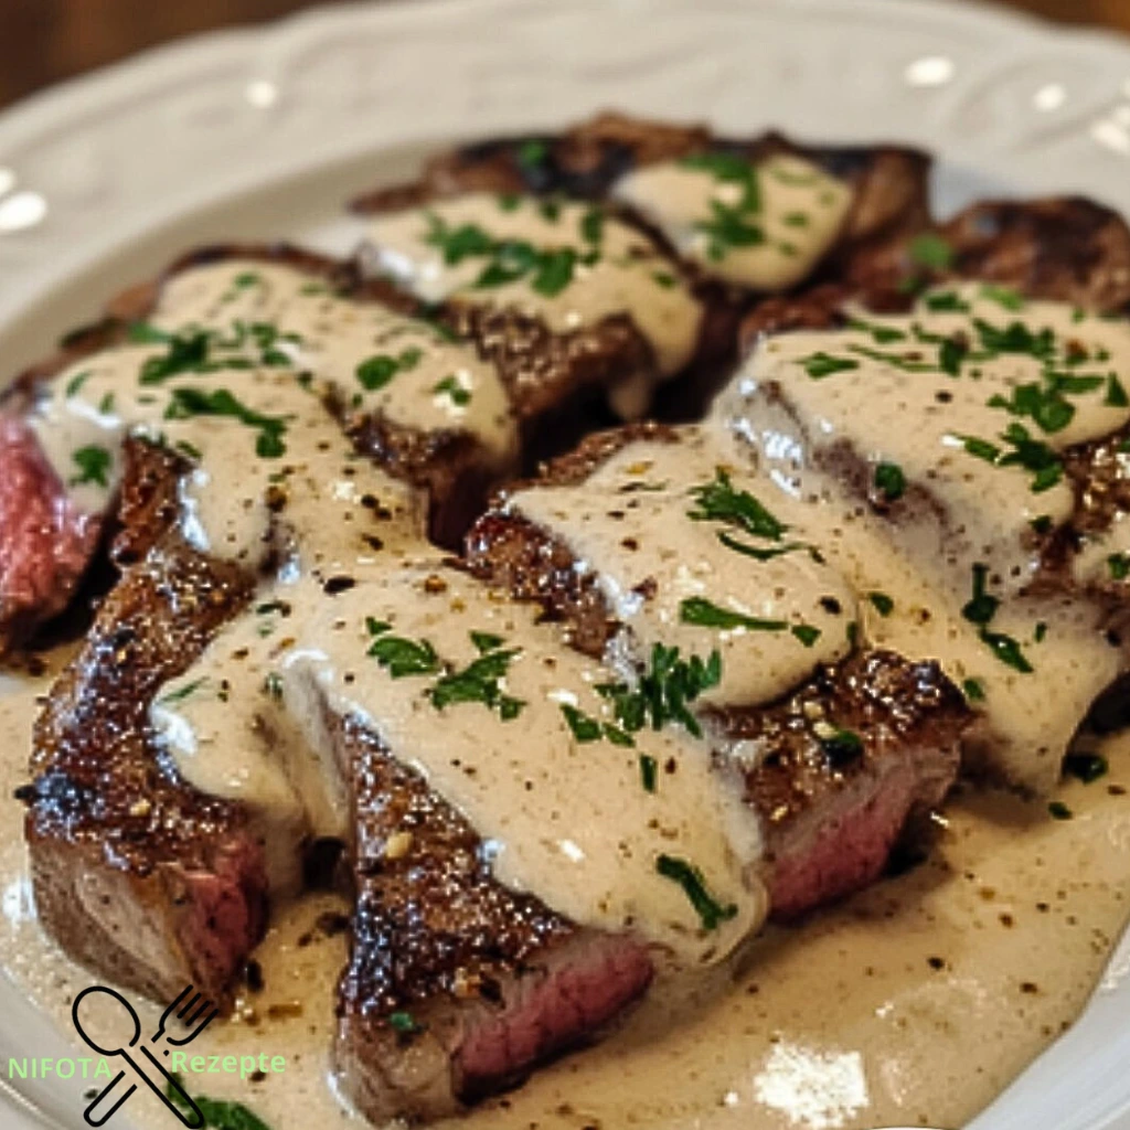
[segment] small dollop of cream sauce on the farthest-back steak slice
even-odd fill
[[[852,201],[844,181],[792,154],[645,165],[617,181],[612,195],[638,209],[706,275],[768,292],[812,272]]]

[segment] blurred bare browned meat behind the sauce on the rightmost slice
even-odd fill
[[[949,278],[984,279],[1032,298],[1074,302],[1113,313],[1130,306],[1130,227],[1109,208],[1083,197],[988,200],[958,212],[933,232],[951,249],[945,270],[913,261],[898,240],[855,259],[851,281],[897,292]]]

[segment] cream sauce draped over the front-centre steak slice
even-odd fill
[[[273,793],[259,791],[260,756],[250,755],[254,764],[245,772],[249,745],[233,733],[254,729],[264,715],[289,716],[329,766],[323,711],[356,715],[468,817],[492,845],[499,881],[573,921],[637,932],[690,963],[720,959],[760,924],[757,820],[711,767],[705,744],[673,727],[641,731],[631,747],[607,737],[583,740],[563,707],[615,723],[594,689],[609,672],[563,647],[551,627],[534,623],[533,608],[497,599],[438,564],[382,563],[351,575],[356,586],[336,597],[306,580],[279,585],[272,599],[293,608],[281,642],[262,638],[257,619],[245,617],[169,688],[175,695],[199,687],[157,715],[188,775],[253,807],[272,803]],[[376,632],[374,621],[386,627]],[[485,647],[473,633],[497,640]],[[431,649],[434,669],[398,673],[382,664],[371,654],[382,635]],[[443,675],[490,651],[516,652],[499,684],[520,704],[515,716],[484,701],[437,705],[431,694]],[[215,688],[224,686],[233,693],[221,697]],[[642,781],[643,756],[659,767],[653,792]],[[318,776],[311,773],[297,793],[301,803],[310,803]],[[332,791],[332,768],[325,776]],[[336,810],[332,799],[320,807]],[[284,798],[280,812],[288,811]],[[697,867],[733,916],[704,930],[685,890],[658,873],[661,854]]]

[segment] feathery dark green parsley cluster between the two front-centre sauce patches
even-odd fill
[[[626,683],[599,684],[594,689],[612,705],[616,721],[627,733],[636,733],[646,724],[661,730],[678,722],[696,738],[702,737],[698,721],[688,710],[704,690],[722,680],[722,657],[711,652],[703,662],[697,655],[679,658],[678,647],[655,644],[651,666],[634,686]]]

